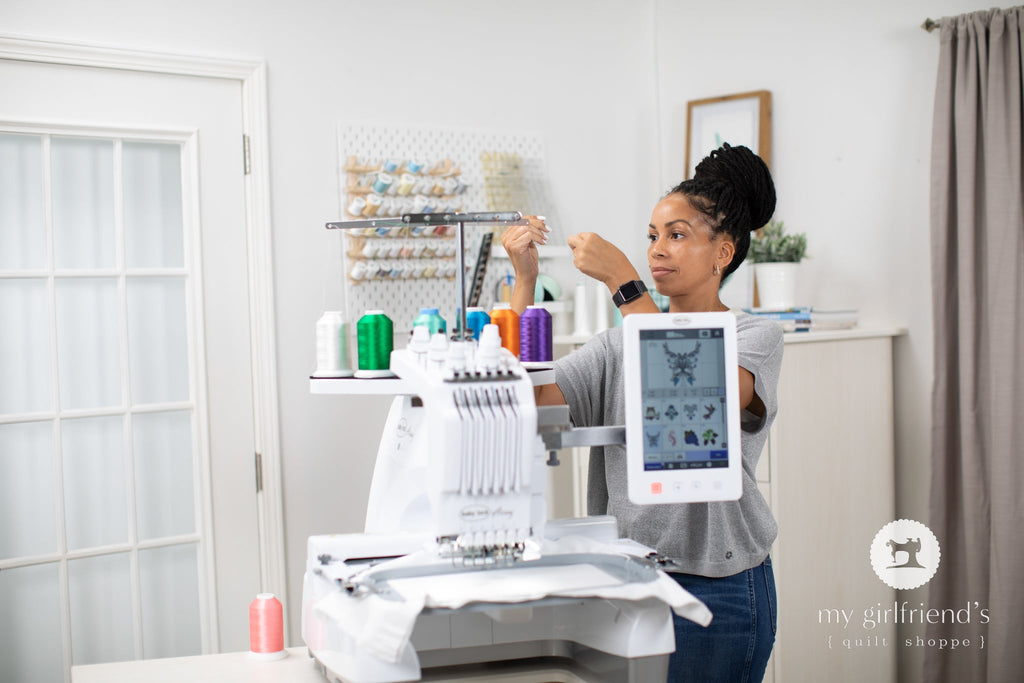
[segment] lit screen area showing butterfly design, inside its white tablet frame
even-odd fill
[[[640,330],[643,468],[728,467],[721,328]]]

